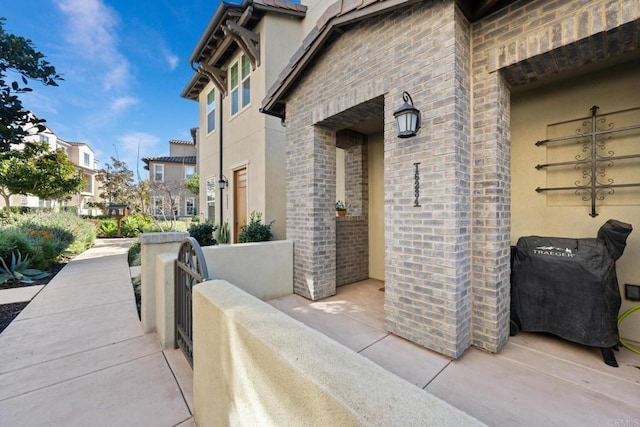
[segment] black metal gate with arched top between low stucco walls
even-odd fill
[[[202,249],[193,237],[187,237],[176,261],[175,337],[176,347],[193,366],[192,288],[209,279]]]

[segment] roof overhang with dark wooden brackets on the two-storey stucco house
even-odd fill
[[[197,101],[198,94],[210,79],[206,73],[210,75],[213,73],[213,77],[217,75],[220,80],[223,80],[224,76],[221,75],[223,67],[239,47],[239,43],[244,44],[243,39],[246,39],[248,30],[253,29],[264,15],[278,13],[301,19],[306,12],[306,6],[285,0],[243,0],[240,4],[223,1],[211,17],[189,57],[189,62],[196,72],[180,96]],[[246,48],[246,46],[241,47]],[[198,72],[193,64],[196,64],[196,67],[204,66],[205,72]],[[203,71],[202,68],[201,71]]]

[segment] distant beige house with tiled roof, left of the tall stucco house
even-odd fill
[[[168,156],[142,159],[149,171],[151,215],[175,218],[198,214],[198,196],[184,183],[197,173],[196,134],[192,131],[192,141],[170,140]]]

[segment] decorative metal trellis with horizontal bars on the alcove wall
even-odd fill
[[[640,124],[615,128],[613,123],[607,123],[607,119],[597,115],[598,106],[591,107],[591,118],[582,123],[583,129],[577,129],[575,135],[561,136],[536,142],[536,146],[544,146],[554,142],[571,142],[582,144],[582,153],[575,156],[575,160],[539,164],[536,169],[545,169],[556,166],[575,166],[582,170],[582,179],[575,182],[572,187],[548,187],[536,188],[538,193],[545,191],[573,190],[584,201],[591,201],[589,216],[595,218],[596,201],[604,200],[605,195],[613,195],[616,188],[640,187],[640,182],[614,184],[614,180],[606,176],[607,168],[614,165],[614,161],[626,161],[640,158],[640,152],[623,156],[616,156],[611,150],[606,150],[606,141],[612,139],[616,133],[640,129]],[[605,129],[599,129],[598,126]],[[585,130],[586,129],[586,130]],[[640,139],[638,141],[640,143]],[[639,144],[640,145],[640,144]],[[603,153],[603,154],[600,154]],[[604,181],[604,182],[603,182]]]

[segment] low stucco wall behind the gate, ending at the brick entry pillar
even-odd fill
[[[293,242],[206,246],[209,277],[222,279],[261,300],[293,293]]]

